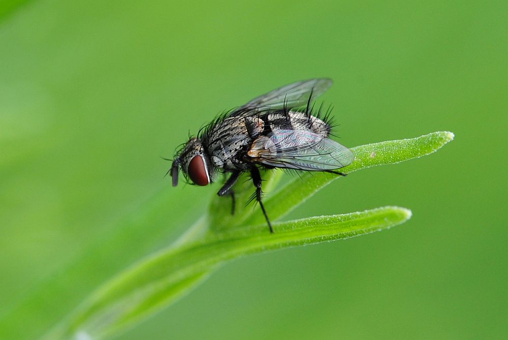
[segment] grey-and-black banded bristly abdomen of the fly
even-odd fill
[[[328,137],[331,126],[326,121],[305,112],[289,111],[267,114],[267,120],[272,131],[303,130],[311,131],[320,137]]]

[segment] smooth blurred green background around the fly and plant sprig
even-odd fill
[[[163,178],[189,130],[312,77],[335,80],[323,99],[347,146],[456,139],[288,218],[413,218],[228,263],[119,338],[508,337],[507,19],[505,1],[4,2],[0,338],[37,338],[205,211],[218,187]],[[167,216],[141,225],[160,202]]]

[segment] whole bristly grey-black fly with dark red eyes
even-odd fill
[[[303,171],[336,171],[354,160],[353,152],[329,139],[329,111],[312,101],[332,85],[317,78],[298,81],[257,97],[247,104],[216,117],[176,153],[171,169],[173,187],[182,171],[190,184],[206,186],[218,173],[230,173],[219,196],[231,195],[243,172],[249,172],[256,187],[255,197],[273,233],[262,202],[260,169],[284,168]],[[317,111],[317,112],[316,112]]]

